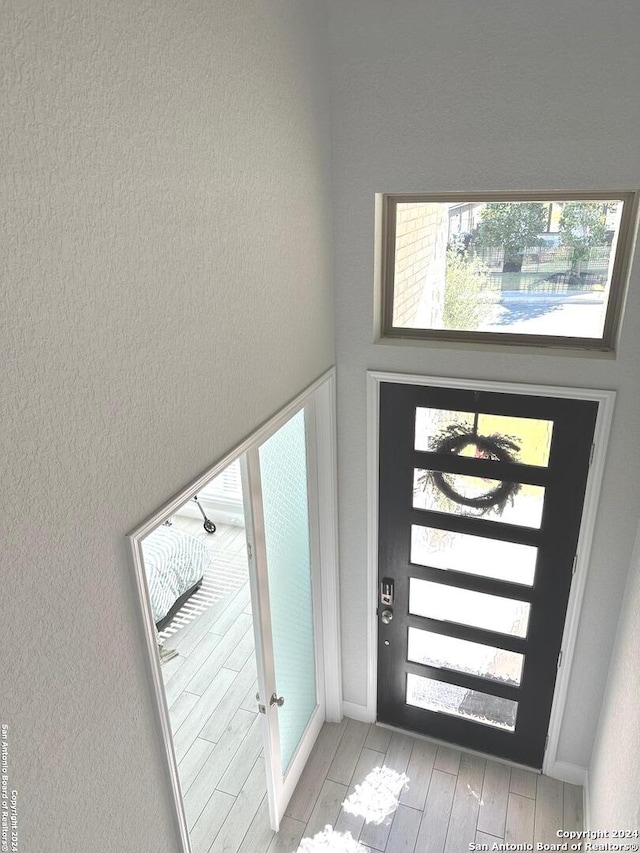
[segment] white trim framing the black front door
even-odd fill
[[[491,382],[479,379],[447,379],[442,376],[420,376],[407,373],[367,371],[367,706],[366,717],[376,718],[378,623],[376,619],[378,586],[378,450],[380,420],[380,384],[393,382],[402,385],[431,385],[472,391],[492,391],[502,394],[521,394],[536,397],[561,397],[572,400],[593,400],[598,416],[593,437],[593,457],[585,490],[582,522],[578,538],[576,570],[571,585],[567,615],[562,638],[562,666],[558,670],[549,720],[548,743],[543,773],[560,776],[563,765],[557,761],[558,740],[565,711],[573,656],[575,652],[580,610],[589,568],[591,542],[595,526],[604,464],[613,418],[615,391],[592,388],[566,388],[554,385],[525,385],[517,382]]]

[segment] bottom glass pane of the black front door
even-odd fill
[[[518,703],[491,696],[479,690],[467,690],[457,684],[445,684],[420,675],[407,675],[407,704],[427,711],[439,711],[465,717],[477,723],[515,731]]]

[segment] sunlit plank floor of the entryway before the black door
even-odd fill
[[[465,853],[471,843],[557,843],[558,829],[582,828],[582,789],[343,720],[322,729],[287,816],[309,853],[325,849],[323,832],[336,851],[359,849],[350,836],[364,850]]]

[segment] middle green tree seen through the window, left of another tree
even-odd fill
[[[520,272],[524,250],[538,245],[546,221],[547,206],[542,202],[492,201],[480,215],[478,243],[503,246],[502,272]]]

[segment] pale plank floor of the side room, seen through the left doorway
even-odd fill
[[[266,792],[246,541],[238,527],[210,535],[197,519],[173,524],[213,557],[203,584],[211,594],[178,614],[165,642],[178,656],[162,666],[191,844],[206,853],[227,849],[225,820],[246,822],[246,831]]]

